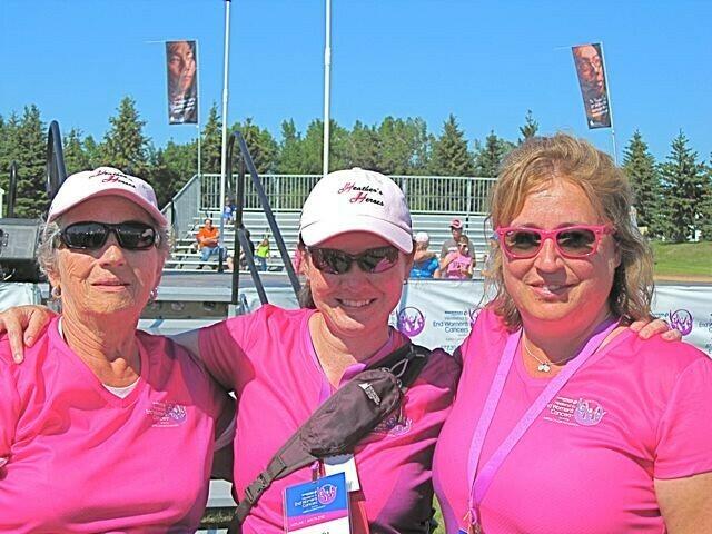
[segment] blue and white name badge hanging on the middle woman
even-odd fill
[[[337,473],[287,486],[284,493],[288,534],[350,534],[346,476]]]

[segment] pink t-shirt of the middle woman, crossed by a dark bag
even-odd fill
[[[263,306],[254,314],[200,330],[208,369],[238,398],[235,482],[238,496],[274,454],[330,394],[315,354],[308,319],[314,310]],[[373,360],[402,345],[394,333]],[[363,370],[349,367],[344,380]],[[403,417],[390,417],[356,448],[363,494],[357,496],[373,533],[424,532],[432,502],[431,464],[435,439],[449,411],[459,365],[433,353],[406,393]],[[344,382],[343,380],[343,382]],[[312,479],[308,467],[275,481],[243,525],[244,533],[283,531],[283,492]]]

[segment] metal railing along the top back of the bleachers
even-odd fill
[[[260,178],[274,210],[300,210],[307,195],[322,175],[261,175]],[[484,215],[487,212],[490,190],[495,182],[495,178],[457,176],[392,176],[390,178],[406,194],[408,206],[414,214]],[[233,182],[226,186],[226,190],[235,191],[235,179],[234,176]],[[220,175],[202,175],[199,209],[201,211],[220,209]],[[261,209],[251,180],[245,180],[245,209]]]

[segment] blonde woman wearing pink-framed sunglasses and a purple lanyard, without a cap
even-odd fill
[[[447,532],[712,532],[712,360],[642,340],[652,256],[611,158],[566,135],[495,186],[496,295],[434,458]]]

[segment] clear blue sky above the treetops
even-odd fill
[[[332,118],[454,113],[468,139],[518,137],[527,109],[542,132],[587,130],[570,47],[603,42],[619,158],[637,128],[662,159],[683,129],[712,152],[712,2],[333,0]],[[168,126],[164,47],[199,41],[200,113],[221,102],[221,0],[1,0],[0,115],[36,103],[63,132],[100,139],[130,95],[155,145],[196,136]],[[231,2],[228,122],[279,135],[323,113],[324,0]]]

